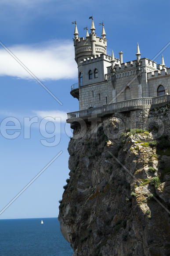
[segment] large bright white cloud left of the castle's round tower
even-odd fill
[[[34,45],[8,47],[40,80],[73,79],[77,68],[74,47],[70,41],[49,41]],[[5,49],[0,49],[0,75],[33,79]]]

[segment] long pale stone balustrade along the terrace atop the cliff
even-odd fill
[[[151,105],[157,105],[170,102],[170,94],[154,97],[154,98],[136,98],[125,100],[122,102],[115,102],[111,104],[106,104],[101,107],[91,108],[91,109],[83,109],[80,111],[75,111],[71,113],[67,113],[68,119],[78,118],[78,117],[88,117],[91,115],[101,114],[105,115],[111,112],[121,112],[128,111],[129,109],[140,109],[151,107]]]

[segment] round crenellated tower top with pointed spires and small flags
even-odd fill
[[[74,47],[75,47],[75,60],[79,66],[80,61],[85,58],[90,58],[93,56],[100,56],[100,54],[107,54],[106,47],[107,47],[107,39],[105,38],[105,28],[103,26],[101,38],[97,36],[95,33],[95,26],[94,20],[92,18],[91,22],[91,33],[86,34],[86,38],[80,38],[78,35],[77,25],[75,24],[74,30]]]

